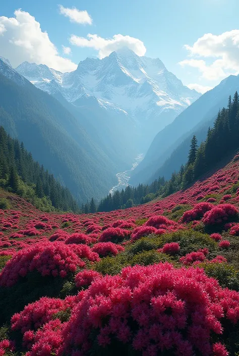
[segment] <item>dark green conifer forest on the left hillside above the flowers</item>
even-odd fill
[[[24,144],[11,138],[0,126],[0,186],[16,193],[43,211],[74,211],[79,207],[69,189],[34,161]],[[1,199],[1,208],[8,201]]]

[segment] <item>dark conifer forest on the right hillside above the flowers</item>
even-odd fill
[[[205,128],[204,128],[205,130]],[[201,131],[199,131],[200,134]],[[205,134],[205,133],[203,133]],[[205,173],[214,169],[216,164],[230,152],[239,147],[239,95],[235,92],[233,99],[229,96],[227,109],[222,108],[217,115],[212,128],[208,128],[206,140],[198,145],[196,135],[193,135],[189,147],[188,161],[181,164],[180,170],[172,173],[169,180],[158,177],[151,184],[139,184],[137,187],[128,186],[121,192],[115,191],[112,195],[101,200],[98,211],[110,211],[130,208],[133,205],[144,204],[157,196],[165,197],[175,191],[186,188]],[[172,155],[169,164],[181,159],[182,149],[186,148],[183,142]],[[167,163],[167,162],[166,162]],[[166,165],[165,163],[165,165]],[[87,206],[83,211],[90,212]]]

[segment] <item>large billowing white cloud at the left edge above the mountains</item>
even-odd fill
[[[0,16],[0,28],[5,29],[0,36],[0,56],[9,59],[13,67],[28,61],[62,72],[77,68],[71,60],[59,56],[47,32],[42,32],[33,16],[22,10],[14,14],[15,18]]]

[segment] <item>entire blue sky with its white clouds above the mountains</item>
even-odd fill
[[[0,56],[13,66],[27,60],[68,71],[115,46],[138,55],[146,48],[146,56],[159,57],[184,84],[203,91],[239,73],[238,13],[238,0],[4,0]],[[89,42],[88,34],[97,36]]]

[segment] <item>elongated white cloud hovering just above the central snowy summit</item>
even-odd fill
[[[113,38],[109,39],[90,33],[87,35],[87,38],[72,35],[70,42],[79,47],[91,47],[98,50],[98,57],[100,59],[109,56],[114,50],[123,47],[132,49],[138,56],[144,56],[146,52],[145,45],[140,39],[121,34],[114,35]]]

